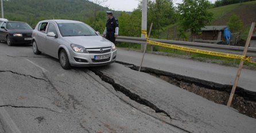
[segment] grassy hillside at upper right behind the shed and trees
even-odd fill
[[[246,38],[252,22],[256,22],[256,1],[236,3],[227,6],[209,9],[214,14],[211,25],[227,25],[232,14],[238,15],[243,22],[243,38]],[[162,31],[161,38],[168,40],[177,40],[177,24],[170,25]]]

